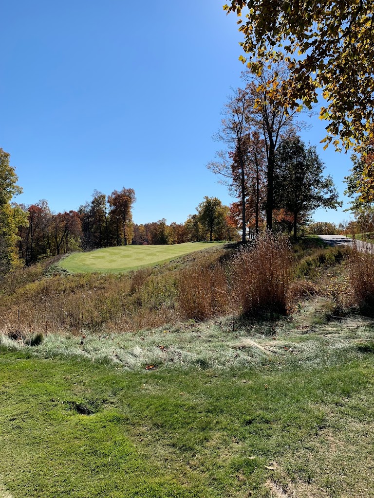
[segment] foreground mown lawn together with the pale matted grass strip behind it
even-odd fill
[[[334,307],[0,337],[0,498],[374,497],[374,322]]]

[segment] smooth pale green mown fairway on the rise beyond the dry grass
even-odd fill
[[[119,272],[153,266],[201,249],[225,242],[187,242],[168,246],[120,246],[71,254],[60,266],[74,273]]]

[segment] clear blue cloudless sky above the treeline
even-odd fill
[[[24,193],[54,212],[94,189],[135,189],[134,221],[183,222],[227,189],[205,168],[220,110],[239,86],[236,18],[220,0],[29,0],[1,8],[0,147]],[[303,139],[318,144],[313,119]],[[349,157],[318,145],[341,193]],[[346,213],[319,210],[339,222]]]

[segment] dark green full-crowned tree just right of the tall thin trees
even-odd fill
[[[276,203],[293,215],[293,237],[297,239],[300,217],[319,207],[342,206],[331,176],[323,176],[324,164],[316,147],[306,147],[298,136],[289,138],[276,153]]]

